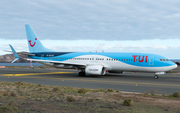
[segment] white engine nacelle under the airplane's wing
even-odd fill
[[[91,75],[105,75],[106,69],[101,65],[87,66],[85,73]]]

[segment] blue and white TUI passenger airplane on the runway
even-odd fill
[[[106,73],[147,72],[154,78],[175,69],[177,65],[166,57],[150,53],[113,52],[55,52],[45,48],[29,24],[25,24],[29,52],[16,52],[10,45],[17,61],[18,54],[25,54],[28,61],[63,69],[78,69],[79,76],[105,75]]]

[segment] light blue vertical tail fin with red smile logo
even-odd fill
[[[29,24],[25,25],[26,28],[26,35],[28,41],[28,47],[30,53],[37,53],[37,52],[52,52],[52,50],[45,48],[40,40],[38,39],[37,35],[31,28]]]

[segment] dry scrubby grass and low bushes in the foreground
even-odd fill
[[[0,82],[0,113],[179,113],[179,96]]]

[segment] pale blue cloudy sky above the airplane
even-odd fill
[[[0,55],[28,51],[25,24],[54,51],[180,59],[179,0],[1,0]]]

